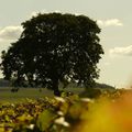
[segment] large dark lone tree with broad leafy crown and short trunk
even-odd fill
[[[58,84],[91,87],[103,54],[100,29],[85,15],[38,13],[22,23],[20,38],[2,52],[1,69],[14,86],[41,86],[59,96]]]

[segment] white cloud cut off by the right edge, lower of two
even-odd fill
[[[132,45],[127,47],[114,47],[109,51],[111,57],[114,56],[132,56]]]

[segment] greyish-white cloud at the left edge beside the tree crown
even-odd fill
[[[22,26],[6,26],[0,29],[0,40],[16,40],[22,33]]]

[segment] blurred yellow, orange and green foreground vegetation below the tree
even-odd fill
[[[132,132],[132,91],[103,90],[96,98],[26,98],[0,103],[0,132]]]

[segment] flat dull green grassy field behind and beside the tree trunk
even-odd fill
[[[67,88],[66,91],[73,91],[79,94],[84,89],[80,88]],[[37,99],[43,97],[53,97],[53,91],[46,88],[20,88],[18,92],[11,92],[11,88],[0,88],[0,102],[14,102],[24,101],[26,98]]]

